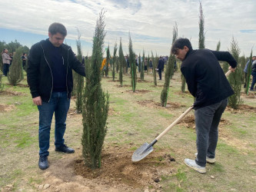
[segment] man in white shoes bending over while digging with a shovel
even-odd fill
[[[196,159],[185,159],[188,167],[199,173],[206,173],[206,162],[215,162],[218,142],[218,124],[228,104],[228,97],[234,94],[218,61],[227,61],[235,70],[237,61],[228,51],[193,50],[188,38],[178,38],[171,52],[182,61],[181,72],[188,84],[188,91],[194,96],[194,118],[197,133]]]

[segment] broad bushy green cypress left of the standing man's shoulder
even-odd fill
[[[12,65],[8,72],[9,84],[16,86],[20,81],[24,79],[22,69],[22,47],[19,47],[15,51],[15,55],[12,58]]]

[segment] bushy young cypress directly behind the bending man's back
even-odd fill
[[[238,48],[238,42],[233,37],[231,40],[231,55],[233,55],[234,59],[238,61],[240,54],[240,49]],[[238,108],[238,104],[241,103],[240,95],[241,95],[241,75],[242,70],[241,66],[238,64],[234,73],[231,73],[228,76],[229,83],[231,84],[231,88],[234,90],[234,94],[232,94],[228,98],[228,105],[231,108]]]

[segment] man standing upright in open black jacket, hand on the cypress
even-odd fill
[[[55,114],[55,151],[67,154],[74,149],[64,144],[66,118],[73,88],[72,69],[85,76],[82,65],[74,52],[63,41],[67,30],[60,23],[48,28],[48,39],[32,46],[28,57],[27,79],[34,104],[39,111],[39,161],[40,169],[48,165],[48,148],[52,116]]]

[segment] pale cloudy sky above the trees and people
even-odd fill
[[[256,0],[201,0],[205,48],[231,48],[234,39],[240,56],[256,55]],[[175,22],[178,37],[198,48],[199,0],[0,0],[0,41],[15,41],[31,48],[48,38],[48,26],[60,22],[67,28],[65,43],[76,53],[78,31],[83,55],[91,55],[96,21],[105,11],[105,48],[111,54],[120,38],[128,54],[129,32],[136,55],[170,55]]]

